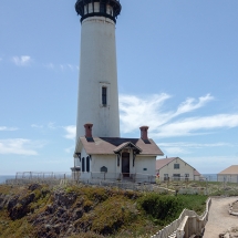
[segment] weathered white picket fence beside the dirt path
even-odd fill
[[[200,235],[208,220],[210,204],[211,199],[208,198],[206,210],[201,216],[198,216],[194,210],[184,209],[178,219],[164,227],[151,238],[189,238],[192,235]]]

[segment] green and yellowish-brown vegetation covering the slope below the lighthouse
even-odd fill
[[[0,237],[37,237],[34,227],[29,220],[53,203],[55,189],[65,194],[75,193],[77,197],[71,208],[76,209],[80,204],[85,210],[83,216],[73,224],[79,234],[72,235],[72,238],[149,237],[176,219],[184,208],[201,214],[207,199],[206,196],[199,195],[175,197],[87,186],[54,187],[53,189],[44,187],[33,192],[35,198],[29,205],[29,214],[21,219],[11,220],[6,208],[0,210]],[[25,196],[29,193],[32,192],[27,187],[0,186],[0,195]]]

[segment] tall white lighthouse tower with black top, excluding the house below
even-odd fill
[[[76,141],[93,124],[93,136],[120,137],[115,24],[118,0],[77,0],[81,15]]]

